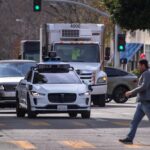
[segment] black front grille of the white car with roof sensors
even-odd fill
[[[76,100],[76,94],[53,93],[53,94],[48,94],[48,99],[52,103],[72,103]]]

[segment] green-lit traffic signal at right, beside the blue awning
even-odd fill
[[[117,45],[118,51],[124,52],[125,51],[125,45],[126,45],[125,34],[118,34],[118,45]]]

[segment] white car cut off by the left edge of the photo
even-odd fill
[[[0,61],[0,106],[16,103],[15,88],[30,67],[35,65],[36,62],[31,60]]]

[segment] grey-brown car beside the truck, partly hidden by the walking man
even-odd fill
[[[107,102],[113,99],[116,103],[125,103],[128,100],[125,92],[137,86],[137,76],[113,67],[105,67],[105,72],[108,77]]]

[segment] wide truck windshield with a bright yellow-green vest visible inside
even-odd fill
[[[64,62],[100,62],[98,44],[55,44],[54,50]]]

